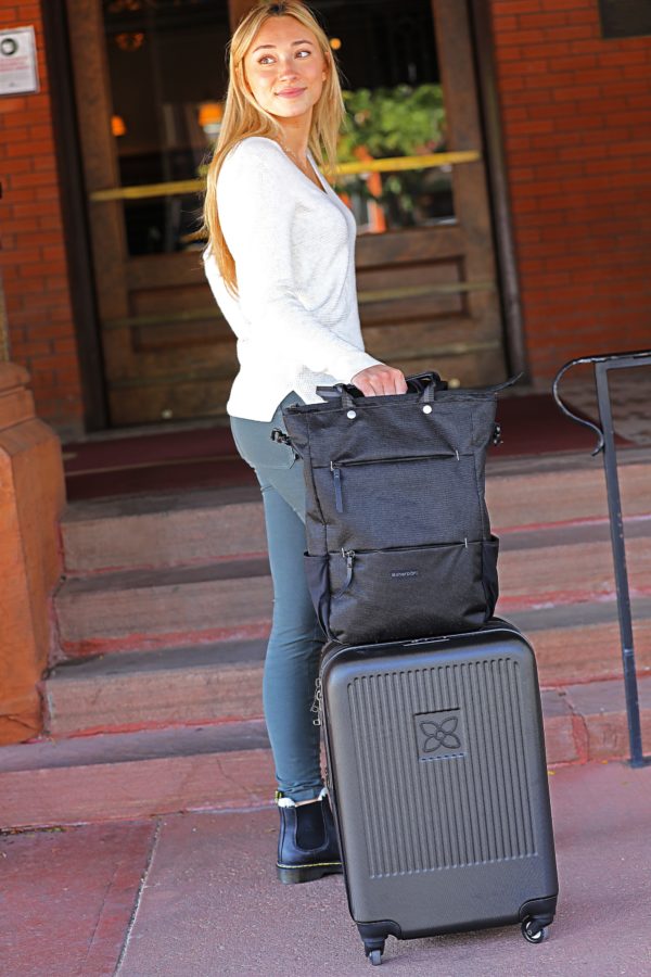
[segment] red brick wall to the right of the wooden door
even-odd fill
[[[597,0],[492,0],[526,343],[536,379],[651,346],[651,37]]]

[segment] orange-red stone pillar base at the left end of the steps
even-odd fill
[[[61,572],[61,446],[35,416],[28,382],[22,367],[0,363],[0,746],[42,728],[37,684]]]

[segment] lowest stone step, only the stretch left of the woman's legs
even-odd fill
[[[0,748],[0,828],[260,807],[273,789],[259,722]]]

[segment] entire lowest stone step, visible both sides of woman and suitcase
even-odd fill
[[[639,683],[642,735],[651,737],[651,677]],[[625,758],[623,683],[542,693],[550,766]],[[273,764],[259,722],[168,727],[0,749],[0,828],[267,805]]]

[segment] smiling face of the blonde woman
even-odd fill
[[[328,65],[311,30],[294,17],[270,17],[244,56],[244,74],[254,99],[271,115],[311,118]]]

